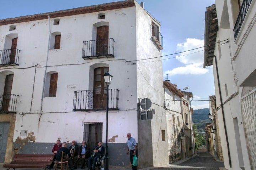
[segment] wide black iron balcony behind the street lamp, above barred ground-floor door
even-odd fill
[[[108,90],[108,109],[118,110],[119,90]],[[105,111],[106,90],[74,91],[73,111]]]

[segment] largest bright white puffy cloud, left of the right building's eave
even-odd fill
[[[187,38],[185,42],[177,44],[177,51],[187,51],[204,46],[204,40],[195,38]],[[185,66],[177,67],[172,70],[167,70],[164,75],[176,75],[176,74],[206,74],[208,69],[203,68],[204,48],[197,50],[182,52],[176,56],[177,60],[185,64]],[[198,52],[200,51],[200,52]]]

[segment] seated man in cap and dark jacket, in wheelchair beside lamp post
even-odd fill
[[[100,158],[101,155],[105,154],[105,147],[102,146],[102,143],[102,141],[98,142],[98,146],[94,148],[90,158],[88,159],[88,170],[94,170],[97,159]]]

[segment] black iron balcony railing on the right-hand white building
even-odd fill
[[[252,0],[244,0],[242,2],[242,5],[241,5],[241,9],[239,11],[239,15],[238,15],[238,18],[236,19],[236,23],[235,23],[235,27],[233,29],[234,31],[234,37],[235,37],[235,40],[238,36],[238,33],[240,31],[240,28],[242,26],[242,23],[244,22],[244,18],[246,16],[246,13],[249,9],[249,6],[251,5],[251,1]]]

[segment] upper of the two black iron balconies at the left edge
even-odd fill
[[[20,50],[18,49],[0,50],[0,67],[18,65],[19,57]]]

